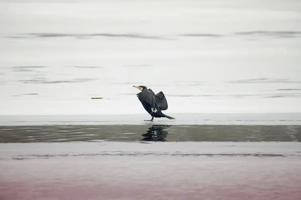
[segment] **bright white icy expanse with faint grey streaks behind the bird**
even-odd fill
[[[1,114],[301,112],[298,0],[0,2]]]

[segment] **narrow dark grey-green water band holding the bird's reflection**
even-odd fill
[[[0,142],[301,141],[301,125],[42,125],[0,126]]]

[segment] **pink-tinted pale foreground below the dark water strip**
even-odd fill
[[[229,146],[224,145],[226,142],[216,143],[219,142],[169,142],[169,145],[165,142],[156,145],[125,142],[96,145],[92,142],[90,148],[88,144],[79,143],[29,143],[19,147],[2,144],[0,199],[301,198],[298,142],[285,145],[275,142],[274,147],[279,145],[277,153],[286,155],[263,157],[237,156],[229,152],[245,152],[243,149],[252,145],[254,152],[256,149],[264,151],[262,149],[271,149],[269,142],[261,149],[262,142],[230,143]],[[66,147],[68,145],[73,149]],[[116,145],[119,145],[119,151],[115,149]],[[181,153],[185,151],[185,145],[195,155]],[[145,146],[146,150],[138,151],[137,146]],[[196,146],[199,146],[199,152],[192,150]],[[211,151],[210,146],[216,155],[200,154]],[[162,153],[145,153],[151,148]],[[220,152],[219,155],[218,151],[229,154]]]

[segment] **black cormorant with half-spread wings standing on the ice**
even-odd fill
[[[175,119],[174,117],[168,116],[161,111],[167,110],[168,108],[167,100],[163,91],[155,94],[152,89],[147,89],[147,87],[143,85],[133,87],[141,90],[141,92],[137,93],[138,99],[141,101],[144,109],[152,116],[152,119],[144,121],[153,121],[154,117]]]

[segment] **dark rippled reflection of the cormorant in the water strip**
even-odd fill
[[[165,138],[168,135],[168,131],[166,128],[171,125],[166,124],[156,124],[148,127],[146,133],[141,134],[144,138],[143,141],[167,141]]]

